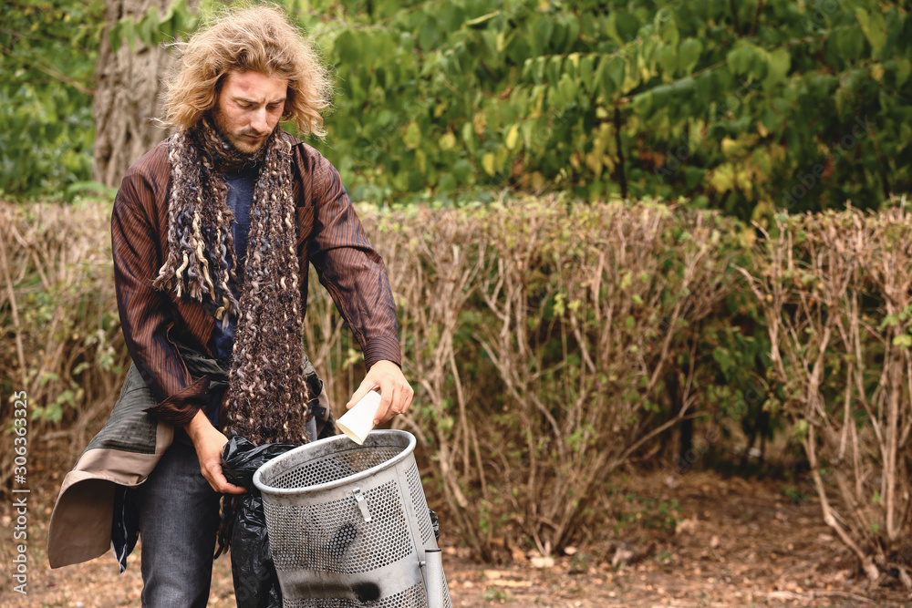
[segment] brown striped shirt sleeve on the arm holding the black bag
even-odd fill
[[[130,170],[111,213],[114,286],[124,340],[133,363],[158,403],[147,411],[183,426],[209,401],[209,378],[193,381],[171,341],[173,309],[167,294],[152,288],[161,265],[153,180]]]

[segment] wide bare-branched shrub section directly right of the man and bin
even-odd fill
[[[495,559],[590,538],[608,475],[693,403],[658,405],[683,330],[735,282],[737,231],[650,203],[365,219],[417,390],[398,424],[430,448],[431,487],[462,540]]]

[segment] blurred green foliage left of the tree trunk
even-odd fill
[[[101,0],[15,0],[0,25],[0,195],[91,178]]]

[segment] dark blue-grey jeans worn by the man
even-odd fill
[[[176,436],[136,489],[143,606],[204,608],[209,602],[219,498],[202,477],[196,450]]]

